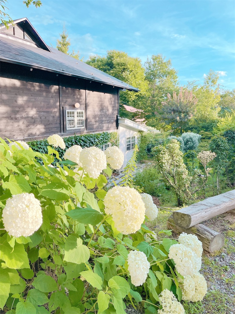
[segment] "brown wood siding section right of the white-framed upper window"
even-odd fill
[[[118,114],[118,91],[112,94],[87,90],[86,129],[87,131],[111,130],[116,128]]]

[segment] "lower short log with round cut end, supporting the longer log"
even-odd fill
[[[167,221],[167,228],[174,230],[176,233],[194,234],[202,242],[202,247],[207,252],[219,251],[224,246],[224,236],[202,224],[195,225],[189,229],[185,229],[175,225],[172,216]]]

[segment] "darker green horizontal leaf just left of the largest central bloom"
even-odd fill
[[[92,226],[98,225],[104,218],[104,216],[95,209],[80,207],[70,210],[65,215],[85,225],[90,224]]]

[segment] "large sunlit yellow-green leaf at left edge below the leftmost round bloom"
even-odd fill
[[[0,259],[5,261],[8,268],[30,268],[28,255],[23,244],[15,243],[14,251],[12,252],[12,247],[7,240],[3,241],[0,244]]]

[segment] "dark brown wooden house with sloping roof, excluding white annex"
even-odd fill
[[[8,29],[0,24],[0,137],[29,141],[117,131],[123,89],[138,92],[49,47],[27,18]]]

